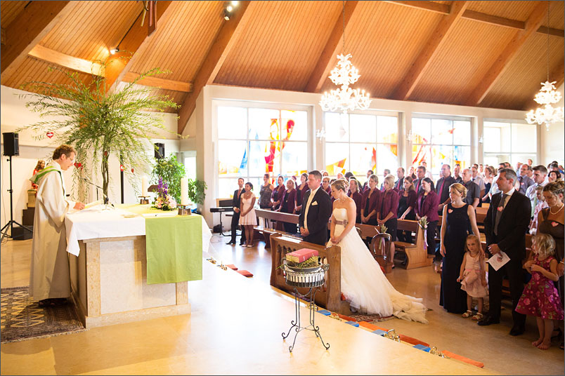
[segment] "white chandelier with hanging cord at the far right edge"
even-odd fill
[[[542,83],[542,88],[535,95],[535,102],[543,107],[538,107],[535,111],[532,109],[526,114],[526,121],[533,124],[541,125],[545,123],[545,130],[550,130],[551,123],[563,121],[563,107],[553,107],[552,105],[561,100],[561,93],[555,90],[554,83],[550,82],[550,2],[547,1],[547,81]]]

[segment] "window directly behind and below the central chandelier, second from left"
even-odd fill
[[[324,115],[325,170],[330,176],[351,171],[365,179],[367,170],[377,175],[398,167],[398,117],[375,114]]]

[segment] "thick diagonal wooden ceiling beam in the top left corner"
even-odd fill
[[[30,1],[8,25],[5,43],[1,45],[1,83],[11,76],[55,25],[69,14],[78,1]]]

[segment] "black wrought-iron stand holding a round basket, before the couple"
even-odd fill
[[[312,330],[316,333],[316,337],[320,338],[323,347],[327,350],[330,348],[329,343],[324,343],[322,339],[322,335],[320,335],[320,328],[316,326],[315,315],[316,315],[316,291],[320,286],[324,284],[324,273],[330,267],[328,264],[319,264],[318,267],[311,267],[311,268],[294,268],[289,267],[286,264],[286,261],[283,264],[283,270],[285,271],[285,280],[288,286],[294,287],[294,307],[295,307],[295,318],[293,321],[290,321],[292,324],[288,333],[285,334],[283,332],[283,340],[285,340],[289,335],[292,328],[296,330],[296,334],[294,334],[294,341],[292,341],[292,346],[288,348],[290,352],[294,349],[294,343],[297,340],[297,335],[301,330]],[[297,288],[309,288],[308,293],[301,294],[298,292]],[[309,300],[309,323],[310,325],[301,326],[300,324],[300,298],[306,298]]]

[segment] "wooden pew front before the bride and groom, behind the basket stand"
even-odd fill
[[[324,264],[330,264],[327,270],[324,286],[316,293],[316,304],[332,312],[351,314],[349,303],[342,300],[342,250],[338,246],[325,248],[318,244],[300,241],[283,234],[271,234],[271,286],[287,293],[294,293],[294,287],[288,286],[283,275],[283,268],[279,268],[288,252],[301,248],[318,250],[318,256]],[[299,293],[306,294],[309,288],[297,288]]]

